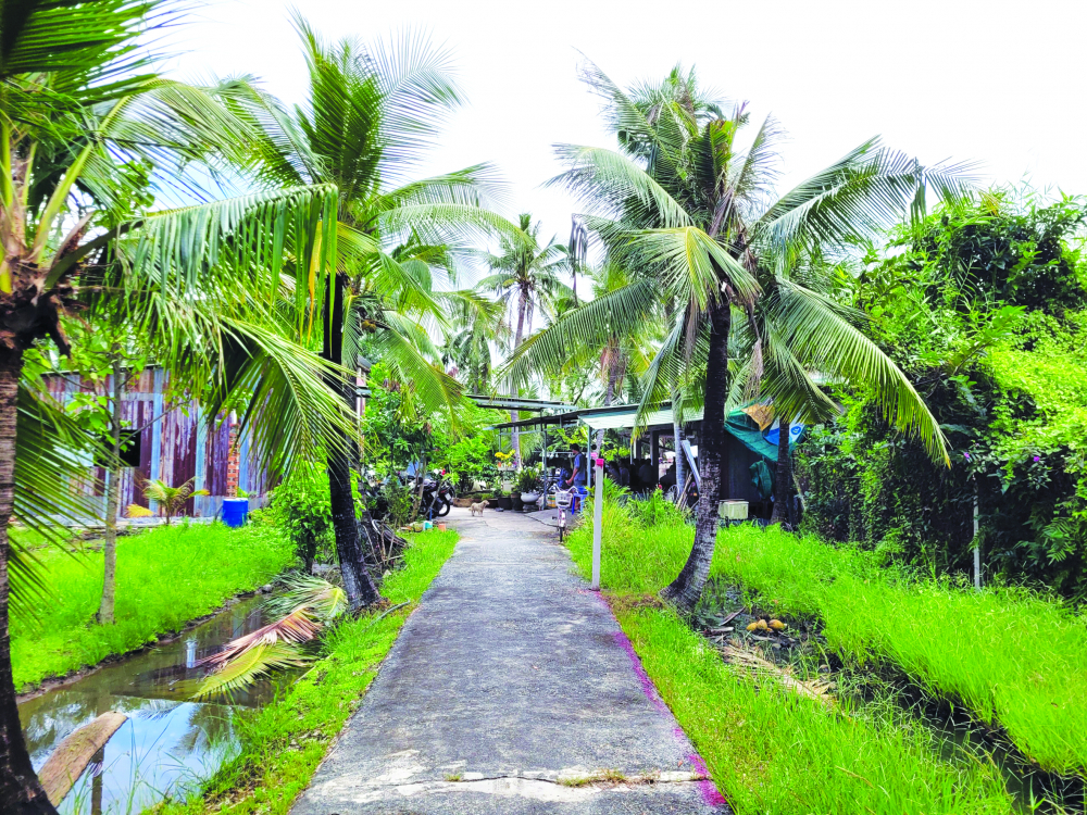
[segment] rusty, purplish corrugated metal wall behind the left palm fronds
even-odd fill
[[[184,510],[186,515],[215,515],[222,506],[226,492],[230,422],[226,417],[216,417],[209,426],[198,405],[184,397],[167,396],[168,384],[165,372],[153,367],[132,376],[126,383],[121,416],[125,429],[140,430],[140,456],[138,467],[121,469],[122,515],[129,504],[149,505],[141,489],[148,479],[162,479],[177,486],[193,478],[193,489],[205,489],[211,493],[189,499]],[[77,392],[112,396],[113,377],[107,377],[107,381],[96,389],[77,375],[50,375],[46,377],[46,386],[55,400],[66,403]],[[246,436],[241,439],[239,454],[239,486],[249,492],[251,504],[260,506],[265,500],[267,478],[260,467],[249,461],[250,444]],[[104,514],[105,471],[91,467],[87,479],[74,479],[71,487],[100,497]],[[158,511],[158,507],[151,509]]]

